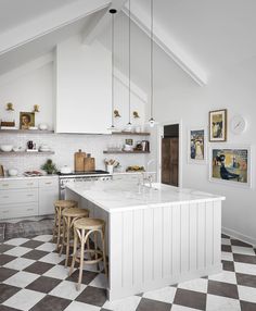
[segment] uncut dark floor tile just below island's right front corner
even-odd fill
[[[212,295],[239,299],[238,286],[234,284],[209,281],[207,293]]]

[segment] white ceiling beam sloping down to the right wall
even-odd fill
[[[123,8],[123,12],[128,15],[127,7]],[[151,35],[150,16],[141,10],[141,8],[132,2],[131,20],[137,24],[148,36]],[[191,59],[178,45],[175,42],[169,34],[154,22],[154,42],[161,47],[187,74],[189,74],[200,86],[207,84],[207,75],[203,69],[200,67],[194,60]]]

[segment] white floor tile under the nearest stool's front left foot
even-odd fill
[[[76,283],[63,281],[55,288],[53,288],[49,295],[75,300],[76,297],[79,296],[85,288],[86,285],[81,284],[81,290],[78,291],[76,289]]]

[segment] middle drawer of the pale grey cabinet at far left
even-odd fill
[[[0,206],[38,201],[38,189],[0,191]]]

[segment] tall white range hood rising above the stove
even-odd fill
[[[111,53],[75,36],[55,52],[56,133],[110,134]]]

